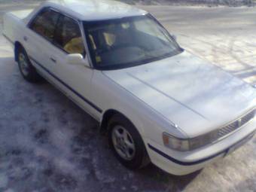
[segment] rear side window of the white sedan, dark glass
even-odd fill
[[[42,37],[52,41],[58,18],[58,13],[47,9],[35,17],[30,25],[30,29],[38,33],[38,35],[41,35]]]

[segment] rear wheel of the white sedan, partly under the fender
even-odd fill
[[[41,81],[41,76],[36,72],[36,69],[34,66],[32,66],[29,56],[26,53],[26,50],[24,50],[23,47],[19,47],[18,53],[18,65],[20,69],[20,73],[23,76],[26,81],[29,81],[31,83],[37,83]]]

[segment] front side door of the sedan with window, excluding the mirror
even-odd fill
[[[93,69],[82,65],[74,65],[67,61],[69,54],[79,53],[86,56],[81,29],[77,20],[62,15],[56,25],[53,47],[48,57],[53,59],[53,73],[59,78],[62,89],[98,119],[101,110],[90,102],[90,84],[93,78]]]

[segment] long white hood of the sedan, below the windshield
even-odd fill
[[[253,87],[185,51],[103,73],[191,138],[215,130],[255,106]]]

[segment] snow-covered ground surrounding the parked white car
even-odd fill
[[[6,11],[35,5],[0,5]],[[255,8],[145,6],[181,46],[248,83],[256,82]],[[1,32],[1,27],[0,27]],[[0,36],[0,191],[256,191],[256,139],[224,160],[176,177],[154,166],[131,172],[98,124],[50,84],[21,78]]]

